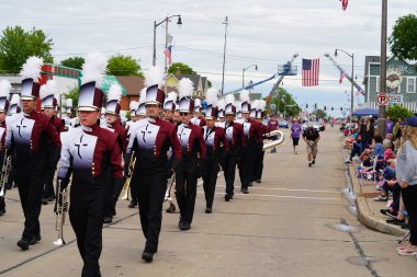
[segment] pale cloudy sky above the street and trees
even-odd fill
[[[362,83],[364,57],[381,51],[381,0],[350,0],[346,11],[339,0],[71,0],[1,1],[0,28],[21,25],[43,30],[53,38],[55,62],[90,51],[105,56],[122,54],[139,60],[144,71],[151,66],[154,21],[180,14],[168,24],[172,39],[172,61],[183,62],[206,76],[213,86],[222,88],[225,16],[228,18],[225,64],[225,89],[245,82],[261,81],[274,74],[280,65],[291,60],[297,76],[285,77],[286,89],[300,106],[315,103],[323,108],[350,107],[350,83],[339,84],[339,70],[326,58],[335,48],[354,54],[354,76]],[[417,1],[388,1],[388,36],[399,16],[417,13]],[[164,67],[165,24],[157,27],[157,65]],[[390,54],[388,54],[390,55]],[[302,86],[302,58],[320,58],[319,85]],[[348,72],[351,58],[339,53],[336,61]],[[277,79],[258,85],[255,92],[268,95]],[[354,103],[363,97],[354,97]]]

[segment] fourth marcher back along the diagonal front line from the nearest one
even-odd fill
[[[213,208],[214,193],[216,189],[217,173],[221,163],[221,148],[228,151],[228,143],[224,128],[216,127],[215,120],[217,108],[215,105],[217,99],[217,90],[210,89],[207,91],[206,102],[207,109],[205,112],[206,126],[203,127],[203,138],[206,148],[205,158],[202,158],[202,177],[205,196],[205,212],[211,213]]]

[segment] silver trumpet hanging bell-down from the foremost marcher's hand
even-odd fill
[[[54,241],[55,245],[65,245],[67,244],[64,240],[64,223],[65,223],[65,217],[68,211],[68,191],[67,188],[64,188],[63,192],[60,191],[60,183],[61,181],[58,180],[56,185],[56,200],[55,200],[55,213],[56,213],[56,220],[55,220],[55,230],[58,231],[58,239]]]

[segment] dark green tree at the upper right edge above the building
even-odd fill
[[[391,51],[402,59],[417,59],[417,16],[399,18],[388,39]]]

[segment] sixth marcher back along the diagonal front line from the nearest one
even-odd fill
[[[262,132],[259,123],[252,119],[253,117],[256,117],[257,108],[250,108],[249,92],[243,91],[240,95],[243,97],[241,113],[245,119],[244,136],[246,146],[244,147],[244,150],[241,152],[239,169],[241,170],[243,178],[241,192],[244,194],[248,194],[248,186],[251,185],[251,178],[253,175],[255,159],[257,154],[257,143],[261,141]]]

